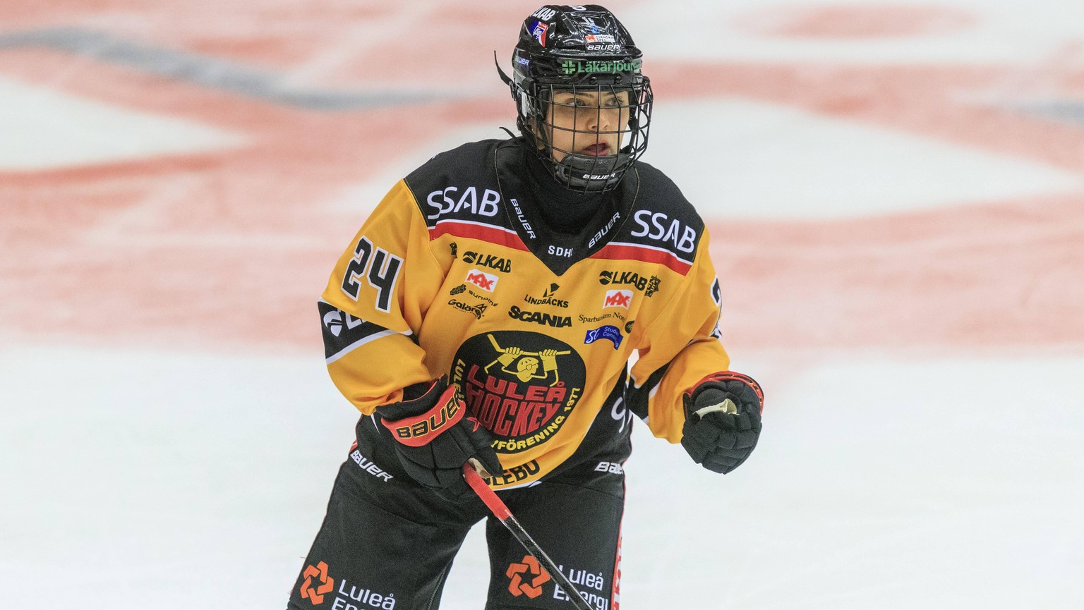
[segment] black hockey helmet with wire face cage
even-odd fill
[[[576,191],[607,191],[644,154],[653,95],[650,81],[641,73],[642,56],[629,30],[597,4],[546,4],[524,21],[512,56],[514,76],[505,75],[500,65],[498,70],[516,100],[519,132],[558,182]],[[554,104],[559,92],[572,95]],[[595,128],[576,131],[554,126],[555,109],[573,117],[573,127],[585,117],[583,113],[591,113]],[[614,120],[603,121],[603,113]],[[601,130],[602,122],[609,128]],[[582,151],[604,134],[616,134],[618,146],[604,156],[555,148],[554,130],[575,137],[569,148]]]

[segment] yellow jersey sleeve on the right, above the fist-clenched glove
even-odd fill
[[[681,442],[682,393],[704,377],[726,371],[731,359],[719,340],[719,281],[708,255],[708,234],[697,248],[685,285],[645,330],[627,394],[630,408],[651,433]]]

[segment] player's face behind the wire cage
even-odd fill
[[[629,91],[605,88],[555,91],[545,129],[557,163],[569,153],[616,155],[629,129]]]

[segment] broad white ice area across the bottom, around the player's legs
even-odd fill
[[[624,608],[1084,602],[1084,360],[747,364],[771,394],[732,475],[637,426]],[[49,584],[9,608],[282,607],[354,420],[319,354],[5,349],[0,392],[0,582]],[[487,573],[476,529],[442,608]]]

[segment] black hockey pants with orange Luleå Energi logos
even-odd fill
[[[339,468],[327,515],[294,588],[294,610],[435,610],[452,560],[483,518],[490,579],[486,610],[568,610],[567,593],[477,498],[453,503],[400,468],[372,420]],[[513,515],[597,610],[615,607],[628,437],[573,456],[538,484],[499,490]],[[451,586],[461,586],[452,582]]]

